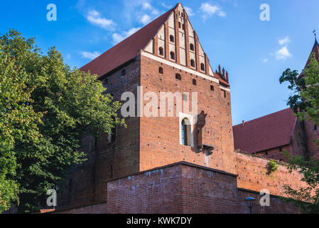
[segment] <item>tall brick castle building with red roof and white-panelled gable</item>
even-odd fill
[[[83,142],[89,160],[72,170],[65,206],[104,202],[107,180],[174,162],[235,173],[228,72],[212,71],[181,4],[81,69],[97,74],[115,100],[126,92],[136,100],[127,128]]]

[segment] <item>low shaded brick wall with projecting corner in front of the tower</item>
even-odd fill
[[[237,188],[236,175],[187,162],[110,180],[107,204],[55,213],[246,214],[249,213],[246,197],[256,199],[255,214],[298,213],[291,204],[274,196],[270,198],[270,207],[261,207],[258,192]]]

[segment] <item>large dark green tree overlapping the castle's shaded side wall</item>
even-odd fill
[[[83,136],[110,133],[124,120],[117,116],[120,104],[103,95],[97,76],[71,69],[55,48],[44,55],[33,38],[14,30],[0,38],[0,45],[28,76],[26,86],[33,88],[29,104],[43,114],[37,125],[40,138],[14,145],[17,166],[12,180],[19,186],[18,212],[33,212],[45,202],[47,190],[63,190],[70,167],[85,160],[80,150]]]

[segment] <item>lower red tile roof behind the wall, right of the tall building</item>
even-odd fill
[[[234,148],[254,153],[288,145],[296,120],[293,110],[287,108],[248,121],[244,125],[235,125],[233,127]]]

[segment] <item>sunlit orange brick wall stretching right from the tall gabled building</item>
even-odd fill
[[[269,190],[272,195],[285,196],[284,185],[291,185],[294,189],[304,187],[298,172],[288,172],[285,165],[279,165],[278,170],[267,174],[269,160],[262,157],[237,152],[237,182],[239,188],[254,190]]]

